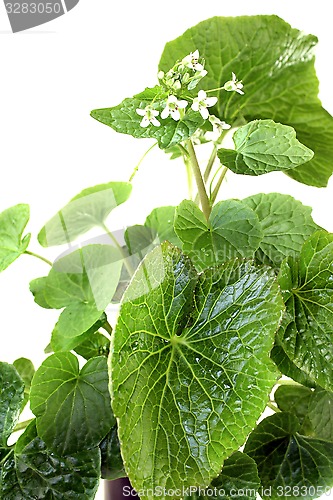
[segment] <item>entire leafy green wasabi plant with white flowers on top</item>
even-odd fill
[[[290,195],[217,201],[228,171],[327,184],[316,42],[276,16],[208,19],[166,44],[157,85],[92,112],[183,160],[192,186],[124,241],[106,220],[131,182],[88,188],[45,224],[39,243],[64,245],[54,263],[22,237],[27,205],[0,215],[0,271],[42,258],[31,292],[61,311],[36,372],[0,364],[1,498],[90,499],[101,477],[126,476],[147,499],[333,486],[333,235]],[[103,236],[82,239],[94,227]]]

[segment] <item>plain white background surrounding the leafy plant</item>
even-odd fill
[[[128,180],[152,144],[117,134],[90,118],[90,111],[154,85],[165,42],[190,26],[215,15],[252,14],[277,14],[319,37],[320,97],[333,113],[329,0],[81,0],[67,15],[18,34],[9,31],[1,2],[0,211],[30,204],[31,250],[55,258],[63,248],[44,250],[37,243],[43,224],[83,188]],[[228,174],[221,196],[272,191],[312,205],[316,222],[333,231],[332,182],[317,189],[280,173]],[[176,205],[186,196],[183,165],[155,148],[135,177],[131,201],[114,212],[109,226],[142,223],[155,206]],[[47,272],[46,264],[23,256],[0,275],[1,360],[26,356],[38,365],[43,359],[58,313],[35,305],[28,283]]]

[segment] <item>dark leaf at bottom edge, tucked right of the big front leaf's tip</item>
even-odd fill
[[[221,474],[212,481],[204,494],[199,492],[195,497],[213,500],[254,499],[259,487],[260,479],[255,461],[245,453],[236,451],[224,462]],[[193,495],[185,498],[189,500]]]

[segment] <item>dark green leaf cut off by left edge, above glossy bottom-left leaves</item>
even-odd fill
[[[0,362],[0,447],[6,448],[21,413],[24,384],[13,365]]]

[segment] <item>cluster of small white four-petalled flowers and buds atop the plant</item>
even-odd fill
[[[149,125],[154,125],[159,127],[161,125],[157,116],[160,115],[162,120],[165,120],[169,116],[175,120],[181,120],[186,113],[186,107],[189,102],[182,99],[182,95],[186,90],[194,89],[199,81],[207,75],[207,71],[204,69],[205,61],[200,57],[199,51],[195,50],[187,56],[185,56],[181,61],[177,61],[174,67],[167,73],[160,71],[158,74],[158,79],[164,87],[164,96],[169,94],[167,99],[165,97],[162,99],[157,99],[154,105],[154,100],[152,103],[147,105],[145,108],[138,108],[136,110],[137,114],[142,116],[141,127],[148,127]],[[237,80],[235,73],[232,73],[232,79],[226,82],[223,87],[216,90],[226,90],[227,92],[237,92],[238,94],[244,94],[242,91],[243,84],[240,80]],[[209,92],[209,91],[207,91]],[[230,125],[221,121],[216,116],[210,115],[208,108],[215,106],[217,103],[217,97],[208,97],[207,92],[200,90],[197,97],[190,97],[185,95],[187,99],[192,100],[191,109],[195,112],[200,113],[204,120],[209,119],[213,126],[211,132],[206,132],[205,138],[211,141],[218,141],[223,130],[230,128]],[[211,91],[212,92],[212,91]],[[156,108],[163,109],[160,111]]]

